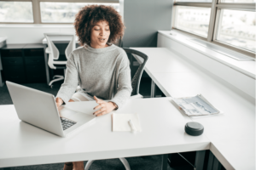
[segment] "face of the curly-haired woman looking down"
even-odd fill
[[[101,20],[92,27],[90,31],[90,47],[92,48],[105,48],[108,47],[108,37],[110,30],[108,21]]]

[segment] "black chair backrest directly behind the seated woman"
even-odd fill
[[[139,64],[135,75],[131,79],[131,87],[132,87],[131,95],[136,95],[136,94],[139,94],[140,82],[143,75],[144,67],[148,60],[148,55],[143,54],[142,52],[137,51],[135,49],[131,49],[131,48],[123,48],[123,49],[125,50],[128,57],[130,58],[134,57],[135,59],[137,59],[137,62]],[[131,59],[130,59],[130,62],[131,62]]]

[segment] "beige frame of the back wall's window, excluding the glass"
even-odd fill
[[[6,2],[32,2],[32,13],[34,22],[0,22],[0,24],[45,24],[45,25],[73,25],[70,22],[42,22],[41,20],[41,2],[49,3],[120,3],[118,0],[3,0]],[[122,0],[121,0],[122,1]],[[123,15],[122,15],[123,16]]]

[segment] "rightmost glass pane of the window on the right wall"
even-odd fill
[[[217,40],[256,52],[256,12],[222,9]]]

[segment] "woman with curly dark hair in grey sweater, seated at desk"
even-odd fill
[[[94,109],[102,108],[94,112],[96,116],[119,109],[132,90],[129,59],[113,44],[124,35],[121,16],[113,7],[89,5],[76,15],[74,26],[83,48],[73,50],[67,59],[65,81],[55,99],[57,106],[95,99],[99,105]],[[78,84],[81,88],[74,94]],[[84,162],[67,162],[64,169],[82,170]]]

